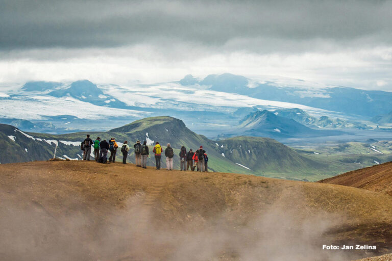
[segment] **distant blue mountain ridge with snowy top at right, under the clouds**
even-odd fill
[[[191,75],[188,75],[187,79],[191,79]],[[186,82],[185,80],[181,80],[180,83]],[[392,93],[390,92],[365,91],[342,86],[310,90],[309,88],[300,87],[302,82],[299,80],[298,86],[294,87],[280,86],[270,81],[251,85],[252,81],[247,77],[223,73],[208,75],[197,83],[209,86],[211,90],[215,91],[297,103],[347,114],[376,116],[383,112],[388,113],[392,108]],[[192,84],[194,84],[194,81]],[[357,106],[358,104],[361,104],[361,106]]]

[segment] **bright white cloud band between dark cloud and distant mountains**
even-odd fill
[[[392,51],[389,47],[292,54],[257,54],[249,51],[211,53],[200,47],[194,51],[197,57],[193,52],[184,52],[181,58],[173,59],[148,45],[74,50],[74,53],[65,51],[69,54],[67,59],[38,59],[48,54],[56,57],[62,52],[61,49],[37,50],[37,57],[32,55],[31,59],[0,59],[0,83],[80,79],[102,84],[156,83],[180,80],[188,73],[204,77],[211,73],[230,72],[244,76],[290,77],[316,82],[320,86],[342,85],[392,91],[389,71],[392,62],[385,60]],[[181,53],[182,49],[177,51]],[[24,55],[27,54],[21,57]]]

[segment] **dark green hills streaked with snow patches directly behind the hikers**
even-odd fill
[[[274,114],[272,114],[274,115]],[[276,116],[276,115],[274,115]],[[293,120],[292,120],[293,121]],[[295,122],[295,121],[293,121]],[[175,151],[174,165],[179,168],[179,151],[181,146],[193,151],[203,146],[209,156],[210,171],[255,174],[278,178],[318,180],[344,171],[353,170],[363,165],[355,164],[353,156],[328,156],[324,152],[292,149],[273,139],[261,137],[239,136],[222,140],[210,140],[196,134],[186,127],[182,120],[173,117],[150,117],[134,121],[130,124],[111,129],[108,132],[88,132],[92,139],[116,138],[119,146],[127,140],[132,148],[137,139],[145,140],[152,147],[159,141],[163,148],[170,143]],[[20,129],[0,124],[0,138],[4,141],[4,149],[0,151],[1,163],[48,160],[53,158],[56,143],[56,156],[60,159],[80,160],[81,142],[87,132],[62,135],[29,133]],[[92,154],[93,156],[93,154]],[[121,155],[118,151],[117,159]],[[363,155],[362,162],[373,163],[390,160],[390,154]],[[369,160],[366,160],[369,158]],[[134,162],[133,149],[129,161]],[[151,154],[148,165],[154,166]],[[164,164],[164,163],[163,163]],[[364,165],[366,166],[366,165]]]

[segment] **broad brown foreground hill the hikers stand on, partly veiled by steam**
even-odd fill
[[[82,161],[0,165],[1,260],[352,260],[392,248],[357,188]],[[377,251],[321,250],[331,244]]]

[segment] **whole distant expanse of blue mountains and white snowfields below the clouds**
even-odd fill
[[[340,120],[363,123],[373,115],[392,110],[389,92],[320,84],[311,88],[312,83],[293,79],[284,83],[285,80],[261,81],[229,73],[204,79],[186,75],[178,82],[160,84],[29,82],[2,88],[0,113],[6,119],[50,122],[57,127],[57,133],[105,131],[136,119],[168,115],[183,119],[192,131],[216,137],[228,133],[254,111],[301,110],[306,117],[325,121],[324,125],[318,122],[324,128],[334,121],[338,125]]]

